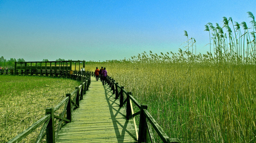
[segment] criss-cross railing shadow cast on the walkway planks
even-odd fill
[[[113,126],[115,127],[116,138],[119,139],[118,143],[126,142],[124,140],[125,134],[129,134],[134,139],[134,142],[136,142],[135,130],[134,130],[134,133],[127,130],[129,120],[126,120],[125,112],[121,112],[121,108],[125,108],[125,107],[119,107],[119,100],[115,99],[115,94],[112,94],[110,87],[105,85],[104,90],[105,90],[105,97],[106,97],[110,114],[111,114],[112,123],[113,123]],[[125,123],[120,122],[120,117],[117,117],[118,114],[122,115],[122,120],[125,119]],[[122,129],[118,128],[118,126],[122,127]]]

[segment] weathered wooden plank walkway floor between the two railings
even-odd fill
[[[92,78],[89,90],[73,111],[72,122],[64,125],[56,143],[136,143],[133,120],[126,120],[110,87]]]

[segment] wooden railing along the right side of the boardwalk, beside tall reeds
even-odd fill
[[[148,112],[147,110],[148,106],[140,104],[136,99],[134,99],[133,96],[131,96],[131,92],[127,92],[123,86],[120,86],[110,76],[107,76],[107,83],[109,87],[111,87],[113,94],[115,94],[115,99],[118,99],[118,98],[120,99],[120,104],[119,104],[120,107],[122,107],[126,103],[126,119],[133,119],[138,143],[142,143],[142,142],[146,143],[149,141],[151,143],[155,143],[151,126],[157,132],[158,136],[161,138],[161,140],[164,143],[181,142],[177,138],[169,138],[167,134],[163,131],[162,127],[159,126],[159,124]],[[134,113],[132,103],[134,103],[136,107],[139,108],[138,112]],[[137,131],[136,121],[134,118],[137,115],[140,115],[139,132]]]

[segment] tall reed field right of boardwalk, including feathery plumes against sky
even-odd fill
[[[120,86],[148,105],[170,138],[256,142],[256,24],[253,14],[248,15],[252,27],[231,17],[223,17],[216,27],[205,25],[209,52],[203,55],[196,53],[196,40],[184,31],[187,41],[178,53],[144,51],[128,60],[86,62],[85,70],[106,67]]]

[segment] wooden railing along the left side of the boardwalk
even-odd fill
[[[56,141],[56,137],[59,134],[61,126],[63,123],[72,121],[72,113],[76,108],[79,108],[79,100],[83,99],[83,95],[86,94],[90,85],[90,74],[87,72],[74,73],[75,74],[72,74],[71,78],[81,81],[81,85],[75,87],[75,90],[72,93],[66,94],[66,98],[64,98],[57,106],[53,108],[46,108],[45,116],[43,118],[31,125],[25,131],[21,132],[15,138],[11,139],[8,143],[21,142],[27,135],[40,126],[42,127],[37,136],[36,143],[41,142],[45,133],[47,143],[54,143]],[[59,115],[56,115],[55,112],[61,107],[63,107],[62,112]],[[57,119],[58,123],[55,122],[55,119]]]

